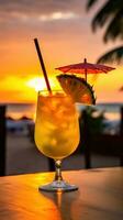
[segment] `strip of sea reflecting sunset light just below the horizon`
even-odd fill
[[[79,106],[82,109],[82,106]],[[109,121],[120,121],[121,113],[120,110],[123,103],[98,103],[96,108],[98,111],[103,112],[105,119]],[[22,117],[27,117],[31,119],[35,118],[36,105],[34,103],[9,103],[7,105],[7,117],[13,119],[20,119]]]

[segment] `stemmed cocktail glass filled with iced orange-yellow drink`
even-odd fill
[[[71,98],[63,91],[38,91],[35,120],[35,143],[47,157],[55,161],[55,178],[40,186],[45,191],[71,191],[77,186],[62,177],[62,161],[70,155],[79,143],[78,112]]]

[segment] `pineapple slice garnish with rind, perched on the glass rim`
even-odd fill
[[[57,79],[63,90],[69,95],[75,102],[96,105],[94,91],[83,78],[75,75],[60,74]]]

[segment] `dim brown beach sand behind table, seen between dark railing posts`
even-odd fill
[[[91,155],[92,168],[119,166],[114,156]],[[63,170],[83,169],[82,154],[71,155],[63,161]],[[48,172],[48,160],[31,142],[27,135],[8,133],[7,135],[7,175]]]

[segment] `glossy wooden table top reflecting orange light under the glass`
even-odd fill
[[[0,220],[123,220],[123,168],[64,172],[72,193],[40,193],[53,173],[0,177]]]

